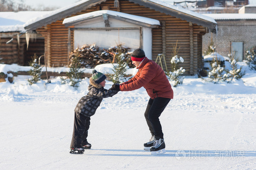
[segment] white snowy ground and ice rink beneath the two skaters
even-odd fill
[[[74,108],[88,78],[78,90],[59,78],[46,90],[46,80],[29,86],[27,76],[0,83],[0,169],[255,169],[256,72],[244,69],[231,84],[187,76],[173,87],[160,116],[166,154],[158,156],[143,150],[150,138],[144,88],[103,99],[91,117],[92,149],[73,155]]]

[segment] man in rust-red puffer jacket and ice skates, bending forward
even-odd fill
[[[139,69],[137,74],[120,85],[113,84],[110,90],[132,91],[140,87],[146,88],[150,99],[144,115],[152,137],[149,142],[144,143],[144,150],[150,150],[152,155],[163,154],[166,151],[159,116],[173,99],[172,87],[163,69],[153,60],[148,59],[141,48],[132,52],[131,60]]]

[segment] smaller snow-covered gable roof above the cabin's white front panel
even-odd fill
[[[146,23],[146,24],[150,24],[150,25],[160,25],[160,22],[155,19],[137,16],[137,15],[131,15],[131,14],[123,13],[123,12],[110,11],[110,10],[94,11],[94,12],[84,13],[82,15],[69,17],[69,18],[64,19],[63,24],[74,23],[76,21],[80,21],[83,19],[102,16],[102,14],[108,14],[109,16],[116,16],[116,17],[121,17],[121,18],[129,19],[129,20],[139,21],[141,23]]]

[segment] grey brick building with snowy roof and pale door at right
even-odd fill
[[[211,38],[219,54],[232,54],[242,61],[245,52],[256,46],[256,5],[245,5],[238,13],[204,14],[218,23],[217,34],[203,35],[203,54]]]

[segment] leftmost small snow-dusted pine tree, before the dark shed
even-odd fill
[[[34,55],[31,57],[31,61],[29,62],[29,66],[31,67],[31,70],[29,71],[29,75],[32,77],[28,79],[28,82],[30,85],[37,83],[41,78],[42,74],[42,67],[37,63],[37,56]]]

